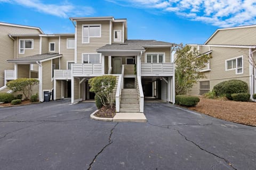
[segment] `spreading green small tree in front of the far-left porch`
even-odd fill
[[[27,100],[33,92],[33,87],[38,83],[39,80],[37,79],[21,78],[9,81],[6,86],[13,92],[21,91]]]

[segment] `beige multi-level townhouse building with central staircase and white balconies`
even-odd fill
[[[6,82],[36,78],[39,100],[71,103],[94,99],[88,80],[111,74],[117,112],[143,112],[144,97],[174,103],[174,44],[128,40],[126,19],[70,18],[75,33],[45,34],[40,28],[0,22],[0,92]]]

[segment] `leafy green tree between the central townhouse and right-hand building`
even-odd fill
[[[205,77],[200,70],[206,66],[211,55],[200,55],[196,48],[183,47],[182,44],[177,47],[175,55],[175,93],[185,95],[198,79]]]

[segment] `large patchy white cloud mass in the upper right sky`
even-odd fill
[[[140,8],[155,8],[218,27],[256,24],[256,0],[111,0],[111,2]]]

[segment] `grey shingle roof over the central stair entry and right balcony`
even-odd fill
[[[157,47],[157,46],[173,46],[173,43],[167,43],[164,41],[156,41],[156,40],[126,40],[125,43],[121,44],[111,44],[105,45],[103,47],[98,48],[98,52],[107,52],[107,51],[125,51],[125,50],[145,50],[145,47]]]

